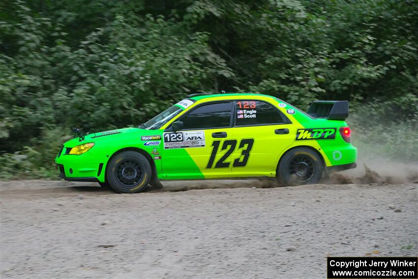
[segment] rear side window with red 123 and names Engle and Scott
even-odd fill
[[[278,109],[263,101],[241,100],[236,106],[236,126],[290,123]]]

